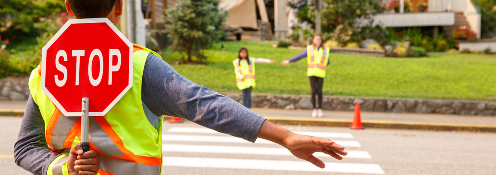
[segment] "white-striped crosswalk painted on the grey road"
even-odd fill
[[[372,159],[367,151],[359,151],[360,143],[353,139],[351,133],[341,132],[306,132],[296,131],[299,134],[328,138],[345,147],[356,148],[347,150],[344,159]],[[264,139],[257,139],[255,144],[248,141],[218,133],[203,127],[170,127],[162,135],[164,169],[174,168],[210,168],[210,169],[244,169],[244,170],[270,170],[270,171],[295,171],[301,173],[356,173],[356,174],[384,174],[378,164],[326,162],[326,167],[320,169],[314,165],[297,158],[284,147]],[[183,157],[183,154],[185,157]],[[202,156],[191,156],[193,154]],[[178,156],[179,155],[179,156]],[[218,155],[245,156],[239,158],[225,158]],[[317,158],[329,160],[329,155],[314,153]],[[281,160],[286,156],[293,159]],[[310,173],[311,174],[311,173]]]

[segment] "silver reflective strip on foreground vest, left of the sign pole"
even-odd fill
[[[76,123],[79,117],[66,117],[62,113],[55,123],[54,130],[52,132],[52,146],[54,150],[63,149],[63,142],[69,134],[70,128]]]

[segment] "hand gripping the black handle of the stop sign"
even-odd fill
[[[70,148],[67,158],[67,169],[69,175],[96,175],[100,159],[97,157],[95,150],[89,150],[83,153],[79,144]]]

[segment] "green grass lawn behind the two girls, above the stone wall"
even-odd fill
[[[221,44],[226,48],[221,51]],[[283,66],[280,62],[302,51],[272,48],[274,43],[221,42],[205,50],[208,65],[173,65],[186,78],[218,92],[240,92],[232,60],[241,47],[255,58],[276,60],[256,64],[253,93],[310,94],[305,59]],[[166,51],[173,64],[178,54]],[[382,58],[332,54],[324,80],[324,95],[400,97],[496,101],[494,55],[431,55],[426,58]]]

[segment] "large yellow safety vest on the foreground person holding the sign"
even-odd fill
[[[98,152],[99,175],[160,175],[162,171],[162,121],[157,129],[145,116],[141,78],[149,53],[134,45],[132,87],[105,116],[89,117],[90,149]],[[81,138],[81,118],[66,117],[40,88],[41,66],[29,77],[29,90],[45,121],[50,149],[61,153],[48,167],[48,175],[68,175],[67,154]]]

